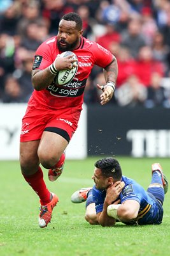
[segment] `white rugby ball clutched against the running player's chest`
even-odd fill
[[[66,52],[62,52],[60,54],[60,57],[66,57],[68,55],[74,54],[74,52],[71,51],[66,51]],[[77,69],[78,69],[78,58],[76,56],[76,54],[74,54],[73,58],[71,58],[73,60],[76,61],[77,63],[77,67],[73,67],[71,69],[64,69],[64,70],[60,70],[57,75],[54,77],[54,83],[58,84],[58,85],[64,85],[69,83],[74,76],[76,75]]]

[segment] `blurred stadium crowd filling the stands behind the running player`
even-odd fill
[[[27,102],[34,52],[57,35],[59,20],[77,12],[83,36],[109,49],[118,61],[109,104],[170,108],[169,0],[0,0],[0,102]],[[87,104],[99,101],[95,67],[85,88]]]

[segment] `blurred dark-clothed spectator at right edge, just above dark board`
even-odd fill
[[[150,86],[147,88],[147,99],[145,101],[146,108],[163,106],[169,108],[169,103],[166,98],[166,90],[162,86],[162,76],[154,72],[151,76]]]

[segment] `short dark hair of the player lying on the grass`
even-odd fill
[[[115,181],[122,179],[122,169],[117,159],[106,157],[98,160],[94,166],[101,169],[103,177],[113,177]]]

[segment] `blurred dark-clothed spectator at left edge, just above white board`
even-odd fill
[[[4,103],[23,102],[20,84],[12,75],[6,77],[1,101]]]

